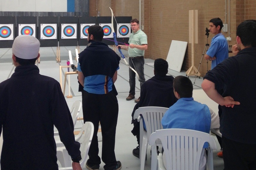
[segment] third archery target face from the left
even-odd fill
[[[41,24],[40,39],[57,39],[57,24]]]

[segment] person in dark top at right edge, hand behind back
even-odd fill
[[[254,21],[239,24],[237,55],[206,73],[202,83],[204,92],[222,106],[220,132],[225,169],[256,169],[255,32]],[[217,90],[222,88],[220,95]]]

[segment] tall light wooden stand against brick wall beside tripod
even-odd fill
[[[198,44],[198,10],[189,10],[189,43],[192,66],[186,71],[186,75],[201,77],[201,73],[194,66],[194,44]]]

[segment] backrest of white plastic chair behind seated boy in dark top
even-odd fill
[[[148,141],[151,133],[163,129],[161,122],[168,109],[166,107],[140,107],[135,111],[133,119],[138,119],[140,115],[142,116],[146,125],[147,134],[149,134]]]

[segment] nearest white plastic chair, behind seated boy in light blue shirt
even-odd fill
[[[152,133],[149,145],[155,146],[160,139],[166,155],[166,168],[163,164],[162,154],[158,158],[156,149],[152,150],[151,169],[158,170],[198,170],[200,156],[205,142],[209,143],[206,167],[213,170],[212,150],[217,149],[215,139],[209,133],[190,129],[162,129]],[[155,147],[154,147],[155,148]],[[158,162],[158,163],[157,163]],[[158,166],[157,166],[158,164]]]

